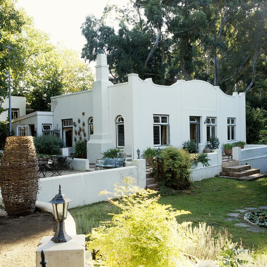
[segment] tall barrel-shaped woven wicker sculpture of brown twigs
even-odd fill
[[[33,137],[7,137],[0,165],[0,187],[8,215],[25,216],[34,212],[38,184]]]

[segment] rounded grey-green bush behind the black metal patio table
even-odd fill
[[[38,154],[58,155],[59,149],[62,148],[62,139],[50,134],[38,135],[34,137],[33,142]]]

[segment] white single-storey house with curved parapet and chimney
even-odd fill
[[[112,84],[108,74],[106,55],[97,55],[92,90],[52,97],[51,112],[16,118],[13,130],[23,135],[26,131],[21,133],[19,127],[28,127],[30,135],[35,129],[38,134],[60,129],[70,153],[74,130],[84,128],[90,163],[111,147],[142,152],[147,146],[182,147],[184,141],[195,139],[202,152],[208,136],[218,137],[221,144],[246,140],[245,93],[226,95],[201,80],[161,86],[134,73],[128,82]]]

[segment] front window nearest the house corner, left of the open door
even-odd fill
[[[153,115],[154,146],[170,144],[170,125],[168,115]]]

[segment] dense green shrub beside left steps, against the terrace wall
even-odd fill
[[[168,146],[166,149],[162,149],[160,153],[164,159],[164,185],[175,190],[188,189],[191,184],[189,179],[192,165],[189,152],[174,146]]]

